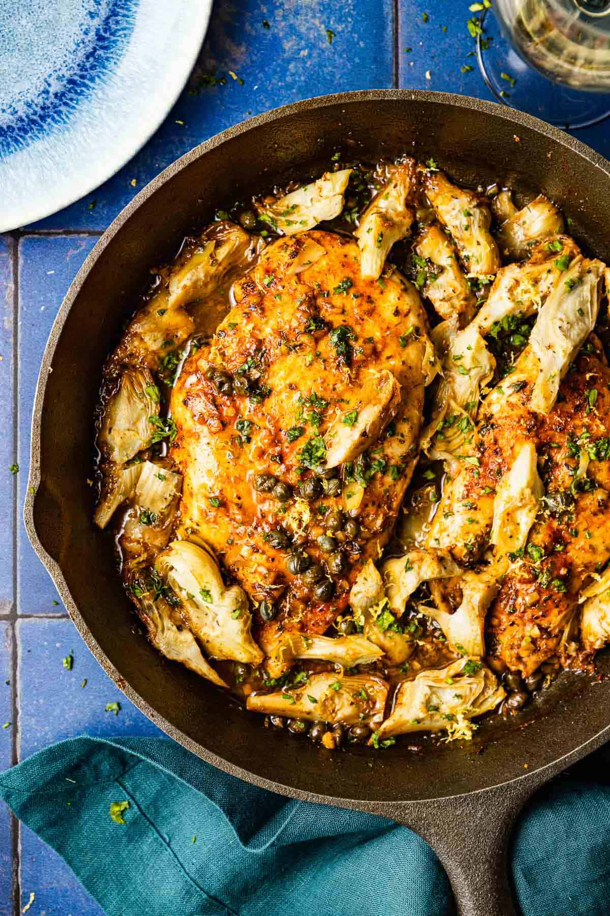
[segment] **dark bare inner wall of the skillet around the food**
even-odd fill
[[[254,778],[337,800],[442,797],[532,772],[607,725],[610,680],[592,683],[564,674],[545,695],[544,708],[534,704],[510,724],[483,725],[476,740],[462,747],[424,747],[422,754],[408,749],[408,739],[385,751],[331,754],[263,729],[262,718],[163,660],[135,632],[112,540],[91,522],[91,418],[102,363],[150,267],[175,254],[183,236],[209,222],[217,209],[275,181],[318,175],[339,147],[371,161],[404,152],[432,155],[462,183],[500,180],[524,194],[544,191],[573,219],[571,233],[585,251],[610,259],[610,177],[603,169],[540,130],[516,125],[498,106],[470,100],[473,107],[458,107],[440,95],[412,100],[407,94],[293,106],[290,114],[233,133],[182,169],[173,167],[171,179],[134,209],[91,267],[60,334],[41,416],[34,523],[98,643],[96,649],[90,640],[98,660],[110,660],[165,720],[157,719],[159,725],[177,740],[187,736],[191,749],[205,749]],[[490,114],[492,107],[498,114]],[[610,669],[607,658],[598,660],[598,668]]]

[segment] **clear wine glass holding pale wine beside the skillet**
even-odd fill
[[[561,127],[610,114],[610,0],[489,0],[476,31],[479,67],[498,99]]]

